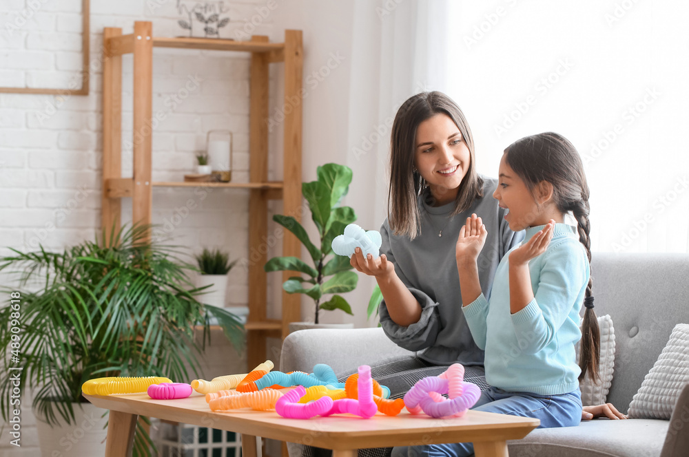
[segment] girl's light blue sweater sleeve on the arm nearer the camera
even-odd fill
[[[543,255],[546,257],[533,300],[511,315],[519,346],[527,354],[548,346],[573,309],[578,328],[578,313],[590,274],[588,258],[577,240],[559,242]]]

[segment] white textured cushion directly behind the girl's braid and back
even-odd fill
[[[609,315],[599,316],[598,327],[601,332],[601,358],[598,365],[601,379],[596,383],[591,379],[590,374],[586,373],[582,382],[579,383],[579,388],[582,390],[582,404],[584,406],[606,403],[608,392],[610,392],[610,384],[613,383],[613,370],[615,368],[615,328],[613,328],[613,319]],[[577,343],[577,363],[579,363],[580,344],[581,341]]]

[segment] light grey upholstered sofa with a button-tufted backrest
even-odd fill
[[[689,323],[689,255],[595,253],[592,272],[595,310],[610,315],[615,327],[608,402],[626,412],[672,328]],[[280,370],[309,371],[327,363],[344,372],[405,353],[380,328],[302,330],[285,339]],[[292,457],[300,450],[294,444],[288,449]],[[689,385],[670,421],[597,419],[577,427],[536,429],[510,442],[509,451],[513,457],[687,457]]]

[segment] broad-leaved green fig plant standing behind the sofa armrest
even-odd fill
[[[298,257],[273,257],[265,264],[264,270],[296,271],[301,275],[293,276],[282,284],[290,294],[305,294],[314,301],[313,323],[291,323],[291,330],[310,328],[319,324],[320,310],[342,310],[352,315],[347,300],[338,295],[356,288],[358,275],[351,271],[349,258],[334,255],[331,247],[333,239],[342,235],[345,226],[356,220],[354,210],[349,206],[340,206],[342,197],[347,195],[352,172],[344,165],[329,163],[316,170],[317,180],[302,184],[302,195],[309,204],[311,220],[316,225],[318,237],[309,239],[304,227],[291,215],[274,215],[273,220],[285,227],[306,247],[311,257],[309,265]],[[326,296],[330,295],[328,299]],[[351,324],[345,324],[351,327]]]

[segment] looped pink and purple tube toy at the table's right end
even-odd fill
[[[435,418],[462,416],[481,395],[477,385],[462,381],[463,376],[464,367],[458,363],[451,365],[440,376],[427,376],[404,395],[404,404],[414,414],[423,410]],[[448,394],[450,390],[449,399],[442,397],[441,394]]]

